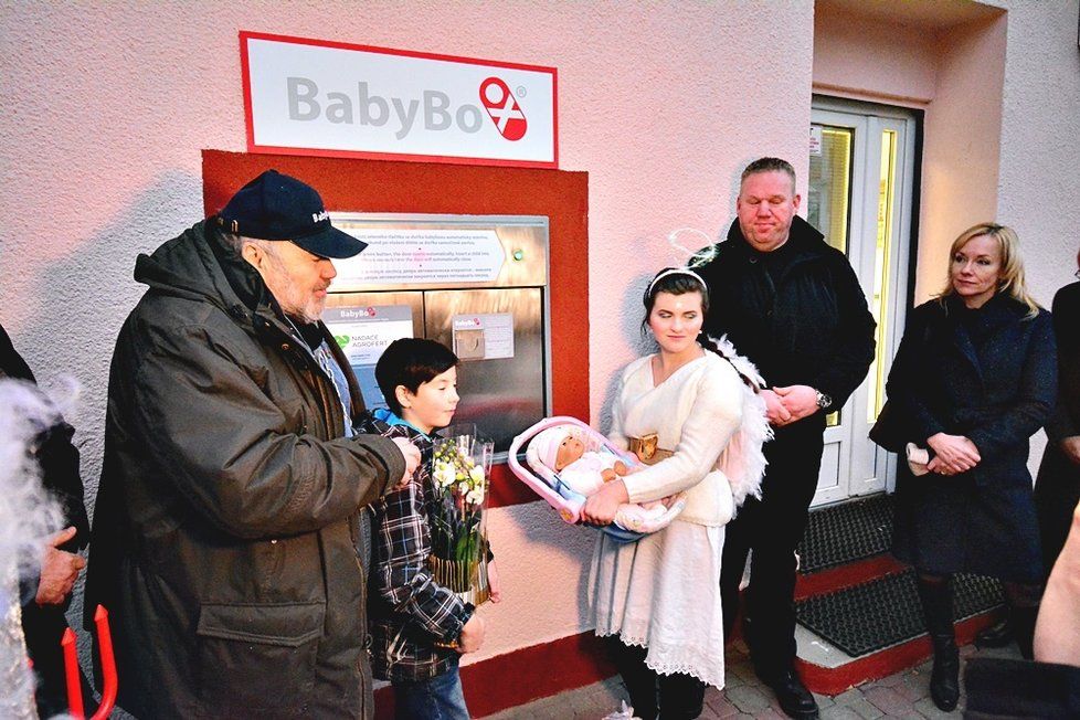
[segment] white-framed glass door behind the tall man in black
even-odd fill
[[[878,324],[867,380],[828,416],[814,505],[880,491],[894,481],[896,457],[867,434],[885,402],[903,330],[914,127],[914,114],[902,108],[814,102],[807,220],[847,255]]]

